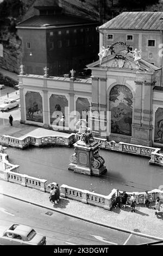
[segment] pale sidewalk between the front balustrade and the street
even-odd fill
[[[156,218],[155,210],[136,205],[136,211],[131,212],[129,206],[126,209],[104,210],[96,206],[87,205],[75,200],[61,198],[60,202],[53,206],[49,202],[49,193],[41,192],[33,188],[23,187],[11,182],[0,180],[1,200],[5,200],[2,194],[18,200],[35,204],[51,211],[80,218],[96,224],[111,228],[126,230],[134,234],[146,234],[147,236],[162,237],[162,219]]]

